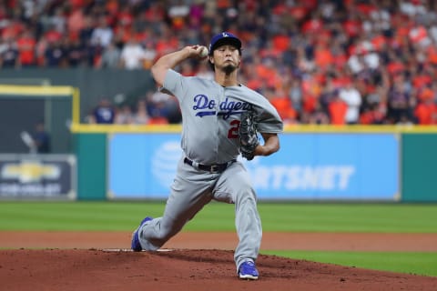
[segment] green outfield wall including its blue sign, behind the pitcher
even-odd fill
[[[88,127],[74,136],[78,199],[167,198],[178,127]],[[279,153],[243,163],[259,200],[437,202],[436,148],[432,131],[289,130]]]

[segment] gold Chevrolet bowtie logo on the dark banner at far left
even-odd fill
[[[38,182],[42,178],[56,179],[60,176],[60,169],[53,165],[43,165],[38,162],[22,162],[21,164],[6,164],[2,168],[2,177],[17,179],[21,183]]]

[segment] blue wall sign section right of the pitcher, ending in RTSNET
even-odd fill
[[[393,200],[399,194],[395,135],[282,135],[279,153],[246,163],[259,197]]]

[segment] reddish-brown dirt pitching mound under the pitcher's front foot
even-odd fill
[[[435,290],[437,278],[259,256],[258,281],[236,276],[233,252],[176,249],[0,251],[2,290]]]

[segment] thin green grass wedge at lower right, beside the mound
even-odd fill
[[[421,276],[437,276],[437,253],[263,251],[262,254],[341,266],[355,266]]]

